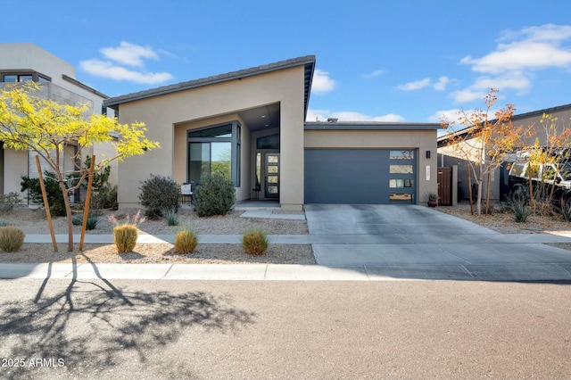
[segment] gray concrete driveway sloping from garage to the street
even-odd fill
[[[370,276],[571,281],[571,252],[548,234],[501,235],[419,205],[305,206],[320,265]],[[321,243],[324,242],[324,243]]]

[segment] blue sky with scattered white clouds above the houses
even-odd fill
[[[315,54],[308,120],[438,122],[571,103],[567,0],[26,1],[2,42],[32,42],[106,95]]]

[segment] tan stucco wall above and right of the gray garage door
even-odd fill
[[[306,130],[305,148],[313,149],[418,149],[418,202],[437,192],[436,130]],[[426,158],[430,151],[430,159]],[[426,167],[430,178],[426,179]]]

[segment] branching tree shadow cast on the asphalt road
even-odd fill
[[[34,299],[0,307],[0,357],[25,359],[24,368],[0,368],[0,377],[53,376],[58,367],[60,375],[93,374],[125,360],[145,362],[189,327],[227,333],[256,319],[206,292],[123,291],[105,279],[66,283],[46,280]],[[50,368],[30,366],[36,359]]]

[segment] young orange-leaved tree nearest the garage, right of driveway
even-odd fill
[[[497,100],[498,90],[490,88],[485,95],[485,109],[474,112],[459,112],[459,124],[467,133],[457,133],[456,123],[446,119],[441,125],[448,132],[448,146],[468,165],[468,180],[476,178],[478,191],[476,195],[476,214],[482,213],[482,188],[484,178],[507,161],[508,154],[513,151],[525,134],[525,128],[515,127],[512,123],[516,108],[507,104],[505,108],[495,112],[495,120],[490,120],[493,104]],[[471,183],[468,184],[471,187]],[[472,205],[470,192],[470,204]]]

